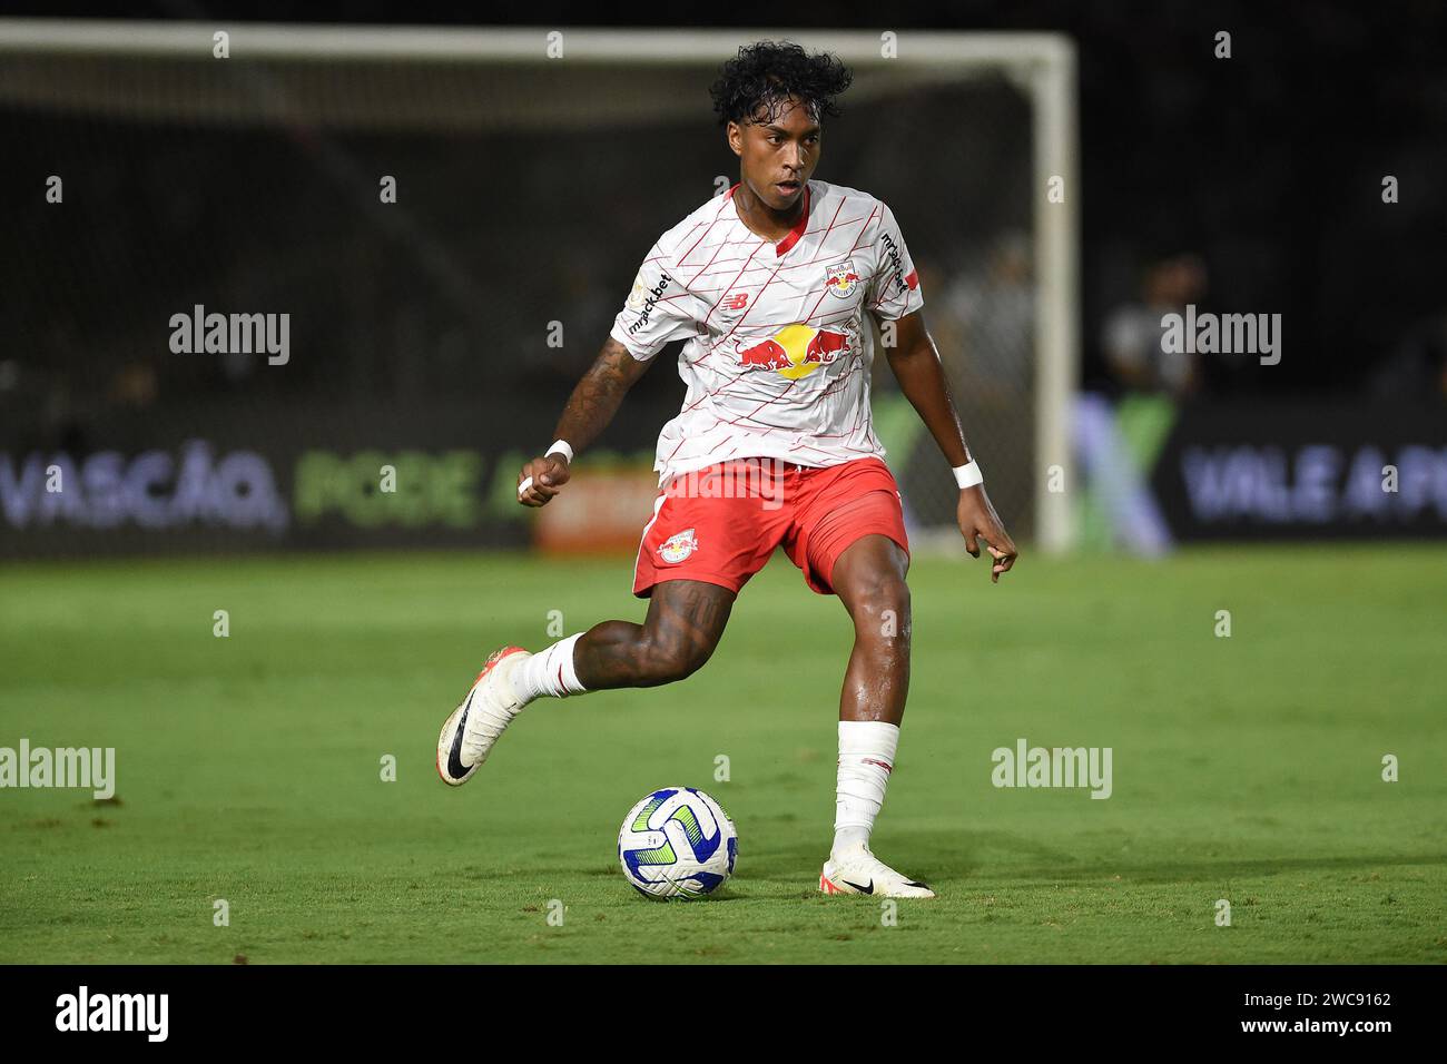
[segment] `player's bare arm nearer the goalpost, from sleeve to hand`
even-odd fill
[[[922,311],[906,314],[894,323],[894,346],[888,347],[890,369],[900,382],[900,391],[910,401],[920,420],[929,428],[939,449],[955,469],[959,485],[959,533],[965,537],[965,550],[980,557],[980,540],[985,541],[994,565],[990,579],[1000,582],[1000,573],[1014,566],[1019,550],[1004,530],[990,497],[985,495],[980,466],[969,455],[959,414],[949,395],[949,382],[939,363],[939,352],[925,329]]]

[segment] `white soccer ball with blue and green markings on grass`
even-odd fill
[[[695,788],[654,790],[628,811],[618,861],[645,898],[692,900],[734,874],[738,834],[712,798]]]

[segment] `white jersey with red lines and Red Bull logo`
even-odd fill
[[[883,457],[864,311],[891,321],[925,303],[894,214],[868,193],[810,181],[799,224],[774,243],[739,220],[735,188],[658,237],[611,330],[640,360],[687,340],[683,410],[658,436],[660,486],[737,457]]]

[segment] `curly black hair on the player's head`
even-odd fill
[[[709,96],[721,126],[773,122],[789,97],[797,97],[816,119],[823,119],[839,113],[833,98],[851,81],[854,74],[835,55],[807,55],[792,41],[760,41],[739,46],[738,56],[724,64],[724,77],[709,87]]]

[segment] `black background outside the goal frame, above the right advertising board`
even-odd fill
[[[67,3],[4,10],[117,14]],[[304,10],[139,3],[126,12],[272,22],[1062,30],[1079,49],[1085,384],[1110,384],[1100,350],[1110,308],[1130,298],[1152,261],[1188,252],[1208,271],[1202,310],[1285,318],[1283,363],[1208,375],[1211,392],[1441,398],[1447,4],[967,0],[888,10],[745,3],[603,13],[547,1]],[[1231,59],[1213,58],[1221,29],[1231,32]],[[1386,174],[1401,182],[1393,206],[1380,198]]]

